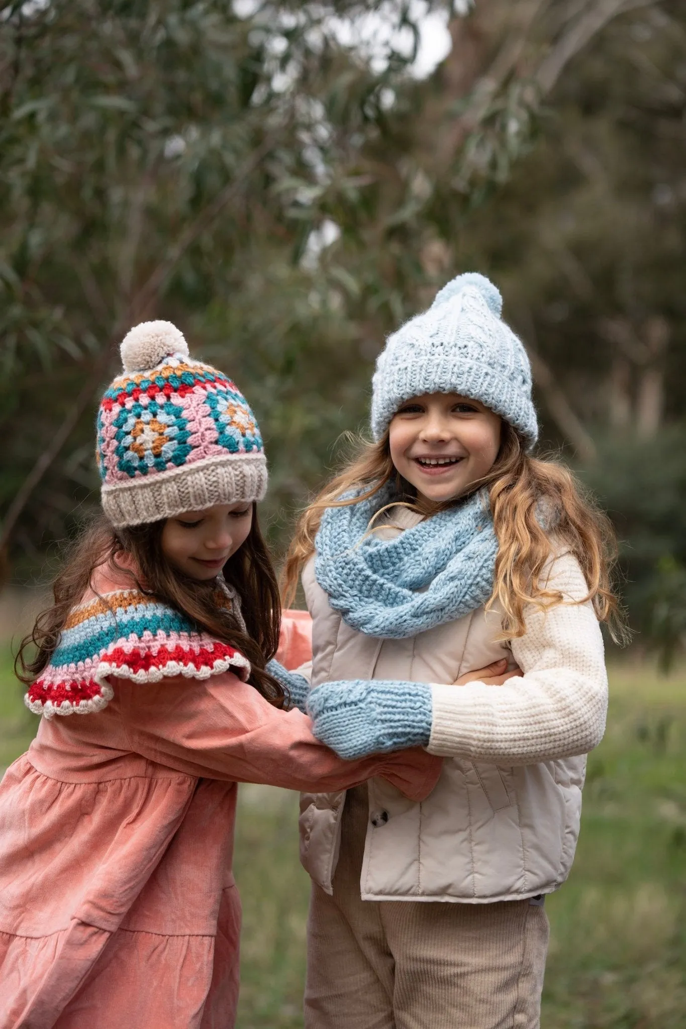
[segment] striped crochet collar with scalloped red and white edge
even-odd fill
[[[24,700],[46,718],[88,714],[114,696],[109,676],[145,683],[227,671],[245,681],[250,664],[173,608],[138,590],[120,590],[72,610],[50,664]]]

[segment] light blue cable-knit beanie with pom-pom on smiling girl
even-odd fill
[[[374,439],[410,397],[460,393],[480,400],[534,446],[531,366],[520,340],[500,317],[502,308],[497,286],[466,272],[439,290],[428,311],[388,338],[371,381]]]

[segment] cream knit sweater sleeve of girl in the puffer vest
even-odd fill
[[[587,594],[575,558],[552,562],[548,588],[568,601]],[[431,684],[430,753],[533,765],[585,754],[600,743],[608,681],[591,604],[532,606],[526,622],[526,635],[510,644],[522,678],[502,686]]]

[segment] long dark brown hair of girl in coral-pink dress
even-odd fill
[[[30,685],[49,664],[69,612],[80,603],[96,568],[109,563],[129,576],[136,589],[185,614],[198,631],[240,650],[250,662],[251,685],[275,707],[283,707],[287,694],[265,671],[279,646],[281,602],[256,505],[247,539],[222,569],[224,579],[241,598],[247,632],[215,580],[198,582],[170,564],[161,548],[164,527],[163,519],[113,529],[105,516],[99,514],[83,530],[52,583],[52,605],[38,615],[32,632],[20,644],[14,662],[17,677]]]

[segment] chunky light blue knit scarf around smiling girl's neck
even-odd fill
[[[369,500],[328,507],[316,539],[315,576],[351,629],[404,639],[485,603],[498,541],[482,493],[394,539],[362,539],[370,519],[393,499],[387,487]]]

